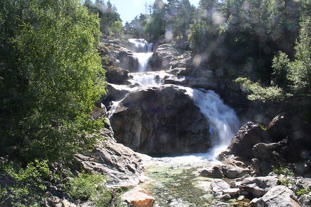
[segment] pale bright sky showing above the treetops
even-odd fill
[[[198,6],[200,0],[189,0],[195,7]],[[106,2],[106,1],[105,1]],[[110,0],[111,4],[117,7],[118,13],[124,25],[126,21],[131,22],[135,16],[145,13],[145,4],[153,4],[154,0]],[[164,0],[164,2],[167,2]]]

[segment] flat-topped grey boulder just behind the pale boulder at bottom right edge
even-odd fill
[[[239,188],[252,193],[255,197],[261,197],[270,189],[277,186],[278,178],[275,176],[246,177]]]

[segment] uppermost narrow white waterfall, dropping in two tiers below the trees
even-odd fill
[[[138,72],[143,73],[148,66],[149,58],[152,56],[152,43],[147,43],[144,39],[129,39],[134,45],[134,58],[138,61]]]

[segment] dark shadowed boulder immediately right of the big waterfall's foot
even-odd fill
[[[259,124],[248,122],[243,125],[221,157],[235,155],[242,159],[253,159],[253,146],[257,143],[271,143],[272,139],[269,133]]]

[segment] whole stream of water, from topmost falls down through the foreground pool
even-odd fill
[[[152,44],[142,39],[129,41],[135,46],[134,56],[139,64],[139,73],[132,74],[133,80],[147,87],[160,84],[161,79],[167,76],[164,71],[146,72],[149,58],[153,54]],[[211,168],[219,162],[214,159],[215,155],[230,143],[240,127],[239,119],[234,110],[226,106],[215,92],[184,89],[209,121],[207,127],[211,134],[212,147],[207,153],[153,158],[152,165],[147,166],[145,171],[152,182],[146,182],[142,187],[155,197],[154,207],[227,206],[223,200],[210,193],[211,179],[197,176],[197,172],[202,168]],[[113,102],[108,118],[116,110],[119,102]]]

